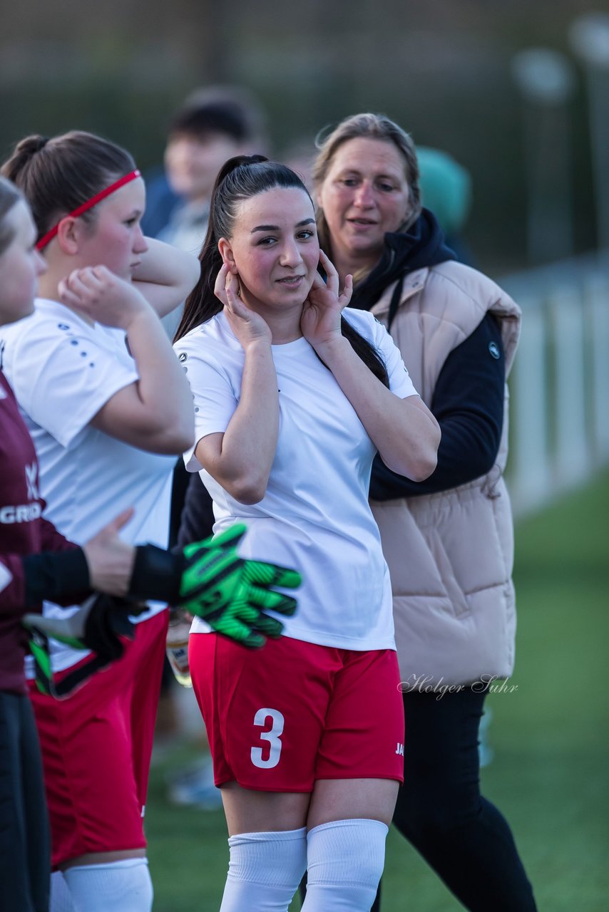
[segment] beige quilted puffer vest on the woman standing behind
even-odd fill
[[[373,306],[385,326],[394,287]],[[488,311],[499,319],[509,371],[520,308],[499,285],[455,262],[406,275],[391,335],[427,406],[446,357]],[[448,492],[371,502],[392,577],[404,690],[511,674],[516,613],[512,518],[502,477],[507,452],[506,387],[499,453],[487,475]]]

